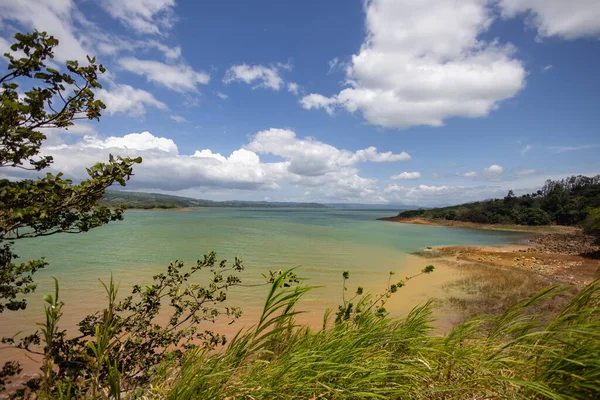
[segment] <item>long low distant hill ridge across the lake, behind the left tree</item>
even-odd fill
[[[107,190],[100,202],[107,207],[125,206],[134,209],[187,208],[187,207],[256,207],[256,208],[328,208],[319,203],[286,203],[267,201],[212,201],[159,193],[123,192]]]

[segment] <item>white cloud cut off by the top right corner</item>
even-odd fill
[[[597,0],[499,0],[506,17],[524,14],[541,38],[600,37]]]

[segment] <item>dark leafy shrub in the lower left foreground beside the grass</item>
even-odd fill
[[[117,301],[113,279],[103,284],[108,306],[79,323],[80,335],[68,338],[58,324],[64,304],[46,296],[46,322],[41,329],[21,340],[3,339],[17,348],[43,356],[39,387],[47,397],[64,388],[74,397],[98,398],[119,387],[128,391],[148,382],[153,368],[165,360],[180,360],[191,348],[214,349],[226,343],[224,335],[200,330],[203,322],[214,323],[226,316],[235,321],[241,310],[227,302],[227,291],[239,286],[242,260],[228,265],[209,253],[190,269],[181,261],[171,263],[166,273],[153,277],[154,283],[135,285],[131,295]],[[196,282],[207,277],[208,284]],[[282,278],[289,285],[291,276]],[[38,348],[42,347],[41,353]]]

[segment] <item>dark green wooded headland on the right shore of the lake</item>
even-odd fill
[[[455,220],[483,224],[581,225],[600,207],[600,175],[547,180],[535,193],[457,206],[404,211],[401,218]]]

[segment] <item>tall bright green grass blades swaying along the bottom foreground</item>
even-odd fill
[[[283,279],[283,278],[282,278]],[[600,395],[600,281],[553,319],[531,313],[552,286],[499,315],[431,334],[428,302],[403,319],[357,303],[323,329],[296,326],[310,288],[276,280],[260,322],[225,350],[163,364],[147,395],[166,399],[594,399]]]

